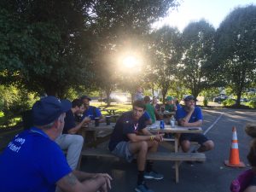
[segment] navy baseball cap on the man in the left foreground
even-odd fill
[[[48,125],[58,119],[61,113],[66,113],[72,107],[67,99],[58,100],[55,96],[46,96],[35,102],[32,107],[34,125]]]

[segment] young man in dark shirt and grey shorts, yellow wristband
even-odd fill
[[[146,172],[144,172],[146,157],[148,153],[157,151],[158,143],[162,141],[163,134],[152,135],[147,130],[145,120],[141,119],[146,108],[143,101],[134,102],[132,107],[132,111],[123,113],[119,117],[110,137],[108,148],[113,154],[125,158],[129,162],[133,160],[134,154],[137,154],[136,191],[149,192],[152,190],[146,186],[144,177],[162,179],[163,176],[152,170],[152,161],[147,162]]]

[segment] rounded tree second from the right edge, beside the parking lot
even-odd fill
[[[192,22],[183,30],[183,59],[179,65],[179,77],[193,96],[209,87],[207,74],[214,45],[214,28],[205,20]]]

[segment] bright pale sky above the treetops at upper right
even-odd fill
[[[182,32],[190,22],[205,19],[217,29],[233,9],[251,4],[256,5],[256,0],[183,0],[177,10],[172,10],[153,27],[176,26]]]

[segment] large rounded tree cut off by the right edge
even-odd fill
[[[256,7],[237,8],[220,24],[216,35],[215,70],[236,94],[255,81],[256,70]]]

